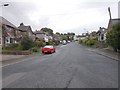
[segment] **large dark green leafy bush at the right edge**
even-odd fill
[[[113,25],[106,35],[106,41],[116,52],[120,50],[120,23]]]

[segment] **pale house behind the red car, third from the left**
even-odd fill
[[[45,42],[48,42],[49,35],[46,32],[43,32],[41,30],[40,31],[36,30],[34,33],[35,33],[36,38],[43,39],[43,40],[45,40]]]

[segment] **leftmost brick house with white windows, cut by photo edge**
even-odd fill
[[[16,31],[18,28],[13,25],[11,22],[6,20],[5,18],[0,16],[0,44],[1,45],[8,45],[11,43],[15,43],[16,40]]]

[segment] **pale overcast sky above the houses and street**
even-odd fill
[[[32,30],[48,27],[54,32],[97,31],[107,28],[109,21],[108,7],[112,18],[118,18],[119,0],[3,0],[0,7],[3,16],[15,26],[21,22],[30,25]]]

